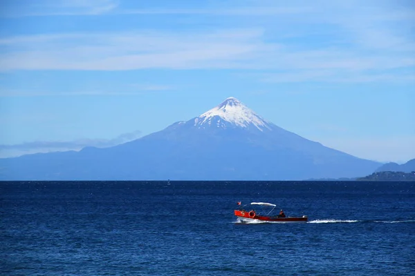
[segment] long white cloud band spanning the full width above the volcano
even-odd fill
[[[0,45],[8,48],[0,55],[3,71],[235,68],[319,70],[313,74],[327,76],[333,69],[415,66],[415,58],[406,55],[362,56],[344,48],[292,49],[266,42],[260,30],[41,35],[1,39]]]

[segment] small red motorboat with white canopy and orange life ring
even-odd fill
[[[241,202],[238,202],[240,205]],[[250,206],[248,205],[241,206],[238,210],[234,210],[234,214],[242,222],[273,222],[273,223],[304,223],[307,222],[308,217],[306,215],[302,217],[286,217],[281,210],[280,215],[271,215],[275,209],[275,204],[270,204],[266,202],[251,202]],[[255,206],[261,206],[262,210],[255,210]],[[272,207],[270,211],[264,210],[264,207]],[[246,210],[248,209],[248,210]]]

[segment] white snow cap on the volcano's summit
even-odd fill
[[[205,128],[206,126],[249,128],[255,126],[255,128],[264,131],[264,129],[271,130],[270,125],[270,122],[257,115],[248,106],[234,97],[225,99],[219,106],[208,110],[194,119],[194,126],[198,128]]]

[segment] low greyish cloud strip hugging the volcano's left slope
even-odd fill
[[[140,130],[124,133],[114,139],[77,139],[74,141],[34,141],[15,145],[0,145],[0,158],[17,157],[39,152],[82,150],[87,146],[109,148],[138,139]]]

